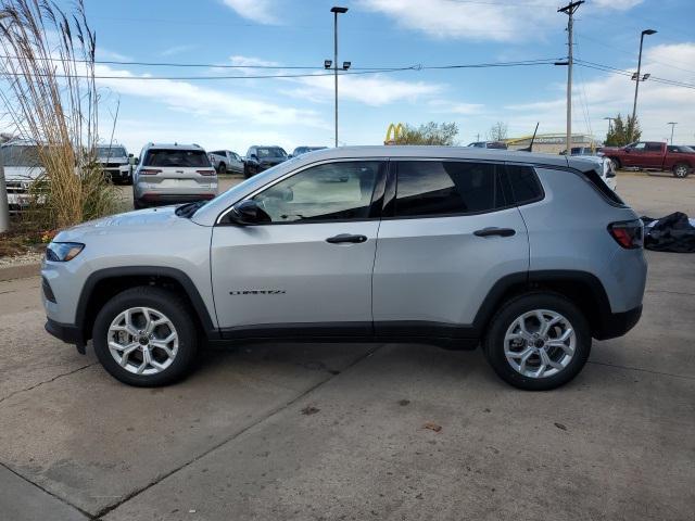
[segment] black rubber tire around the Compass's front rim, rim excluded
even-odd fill
[[[178,335],[176,356],[166,369],[154,374],[129,372],[115,360],[108,346],[109,328],[113,320],[126,309],[136,307],[149,307],[164,315]],[[131,288],[112,297],[97,315],[92,329],[94,353],[112,377],[128,385],[153,387],[174,383],[190,371],[195,360],[198,331],[191,316],[187,303],[175,292],[151,285]]]

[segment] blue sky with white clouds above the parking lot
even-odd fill
[[[59,2],[65,8],[70,2]],[[245,154],[251,144],[332,145],[333,18],[327,0],[86,0],[99,63],[101,136],[136,154],[148,141],[195,142]],[[455,122],[458,140],[564,132],[567,67],[553,64],[426,69],[565,59],[567,15],[557,0],[345,0],[339,17],[340,144],[380,144],[390,123]],[[576,59],[694,88],[640,84],[643,139],[695,144],[695,0],[586,0],[576,14]],[[216,65],[216,66],[215,66]],[[229,65],[281,68],[225,68]],[[288,68],[283,68],[288,67]],[[363,74],[364,68],[412,67]],[[307,74],[307,77],[251,78]],[[116,78],[113,78],[113,77]],[[147,77],[179,79],[146,79]],[[216,79],[190,79],[193,76]],[[235,79],[223,76],[237,76]],[[181,77],[189,79],[180,79]],[[605,138],[607,116],[632,111],[630,77],[574,67],[573,131]]]

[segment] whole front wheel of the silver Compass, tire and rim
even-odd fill
[[[186,303],[162,288],[118,293],[99,312],[92,338],[101,365],[117,380],[157,386],[182,378],[192,367],[198,335]]]

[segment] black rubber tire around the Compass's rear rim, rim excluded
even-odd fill
[[[574,353],[559,372],[544,378],[521,374],[505,356],[504,339],[507,329],[525,313],[546,309],[565,317],[576,335]],[[525,391],[547,391],[572,380],[584,367],[591,353],[591,328],[584,315],[566,297],[549,292],[527,293],[505,303],[490,322],[483,339],[485,358],[505,382]],[[535,356],[535,355],[534,355]]]

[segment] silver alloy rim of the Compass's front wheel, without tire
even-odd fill
[[[134,374],[166,370],[178,353],[178,333],[172,320],[150,307],[131,307],[109,327],[106,343],[114,360]]]

